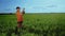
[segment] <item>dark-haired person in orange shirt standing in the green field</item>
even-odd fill
[[[21,13],[21,7],[16,7],[16,18],[17,18],[17,26],[15,28],[15,34],[20,36],[22,25],[23,25],[23,15],[25,14],[25,11]],[[20,32],[18,32],[20,31]]]

